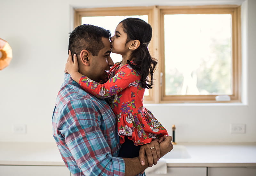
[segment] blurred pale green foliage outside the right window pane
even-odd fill
[[[232,93],[232,57],[231,39],[212,41],[210,58],[202,58],[200,67],[191,74],[196,75],[196,87],[199,94],[231,94]],[[186,63],[184,63],[186,64]],[[165,94],[179,95],[184,76],[179,70],[165,73]]]

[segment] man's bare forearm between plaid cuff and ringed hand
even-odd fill
[[[125,175],[124,176],[134,176],[138,175],[140,172],[144,171],[148,167],[148,160],[145,158],[145,165],[140,164],[139,157],[135,158],[123,158],[125,162]]]

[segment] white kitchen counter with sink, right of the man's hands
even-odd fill
[[[171,152],[180,146],[186,149],[188,156],[164,157],[168,167],[256,168],[256,143],[178,143]]]

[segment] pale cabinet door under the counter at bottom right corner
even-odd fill
[[[208,176],[255,176],[256,168],[208,167]]]

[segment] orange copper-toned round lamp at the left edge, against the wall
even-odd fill
[[[0,70],[7,67],[12,60],[12,48],[2,38],[0,38]]]

